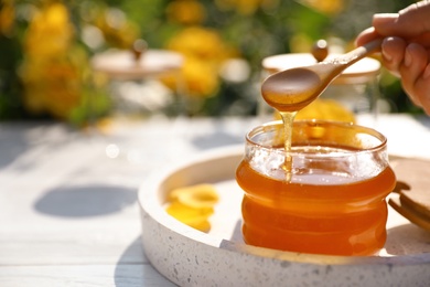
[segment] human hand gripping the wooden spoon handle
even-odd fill
[[[384,38],[384,66],[401,78],[413,104],[430,116],[430,1],[417,2],[399,13],[375,14],[373,26],[357,36],[356,44],[376,38]]]

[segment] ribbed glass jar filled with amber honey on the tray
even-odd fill
[[[295,121],[287,180],[283,124],[246,136],[236,171],[247,244],[300,253],[372,255],[386,241],[386,196],[396,184],[386,138],[344,123]]]

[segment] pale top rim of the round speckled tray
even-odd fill
[[[288,264],[301,264],[301,265],[314,265],[314,266],[337,266],[338,268],[351,267],[356,269],[359,266],[385,266],[389,270],[393,268],[406,268],[413,266],[430,266],[430,253],[413,254],[413,255],[397,255],[397,256],[332,256],[332,255],[320,255],[320,254],[304,254],[304,253],[293,253],[293,252],[283,252],[269,248],[262,248],[251,245],[246,245],[244,243],[230,242],[224,240],[213,234],[206,234],[194,230],[172,216],[170,216],[160,204],[157,205],[160,183],[166,180],[171,174],[180,170],[186,169],[193,164],[207,161],[216,161],[221,158],[238,158],[240,159],[244,151],[243,145],[228,146],[224,148],[215,148],[212,150],[198,152],[194,157],[187,159],[186,161],[181,161],[176,164],[169,167],[162,172],[153,173],[146,183],[143,183],[138,191],[138,201],[142,214],[142,221],[153,221],[160,228],[169,231],[169,233],[175,234],[180,237],[185,237],[186,241],[202,245],[203,248],[211,249],[223,249],[232,252],[237,255],[246,255],[247,257],[252,257],[256,261],[278,261],[280,263]],[[396,156],[394,156],[396,158]],[[401,157],[397,157],[401,158]],[[426,160],[426,159],[424,159]],[[146,232],[146,224],[142,223],[143,233]],[[146,253],[150,238],[142,237],[143,249]],[[149,256],[150,262],[158,268],[162,274],[164,274],[155,262],[155,258]],[[166,274],[164,274],[166,275]],[[429,275],[427,275],[429,276]],[[169,277],[166,275],[166,277]],[[171,277],[169,277],[171,278]],[[429,277],[430,278],[430,277]],[[172,279],[172,278],[171,278]]]

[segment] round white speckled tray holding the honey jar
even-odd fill
[[[428,286],[430,233],[391,209],[387,243],[378,256],[298,254],[244,244],[243,193],[234,180],[241,153],[240,146],[198,155],[158,172],[139,190],[144,253],[170,280],[180,286]],[[391,160],[395,170],[399,163]],[[169,190],[196,183],[215,184],[221,194],[207,234],[163,209]]]

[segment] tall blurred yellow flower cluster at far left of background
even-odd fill
[[[31,20],[21,67],[24,105],[30,111],[67,119],[79,104],[86,56],[72,50],[73,38],[67,10],[60,2],[43,7]]]

